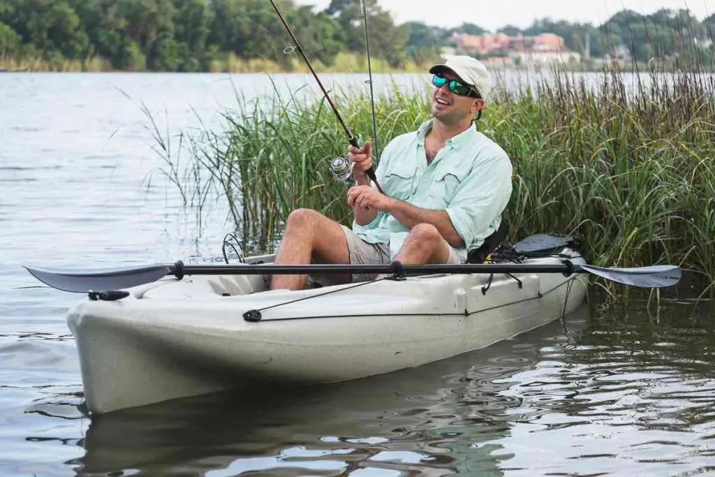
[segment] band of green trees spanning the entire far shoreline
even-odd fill
[[[320,67],[335,66],[340,55],[365,53],[359,0],[332,0],[325,10],[278,2]],[[370,52],[389,68],[435,61],[455,31],[485,32],[475,24],[455,29],[395,24],[378,0],[365,4]],[[693,51],[706,53],[706,62],[714,26],[715,15],[699,21],[687,11],[662,9],[647,16],[622,11],[601,26],[542,19],[521,34],[558,34],[568,49],[588,50],[594,58],[625,48],[643,62],[704,45]],[[514,26],[499,31],[519,33]],[[196,72],[259,62],[290,71],[300,67],[296,59],[268,0],[0,0],[0,66],[33,60],[50,68],[73,62],[77,69]]]

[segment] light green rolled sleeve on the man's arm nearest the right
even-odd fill
[[[511,198],[511,174],[511,161],[502,156],[475,167],[457,187],[446,212],[467,250],[498,227]]]

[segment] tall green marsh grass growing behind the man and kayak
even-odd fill
[[[531,88],[498,90],[480,121],[513,161],[511,240],[575,234],[597,265],[676,263],[715,282],[713,79],[654,73],[650,85],[629,92],[615,71],[596,88],[553,73]],[[347,89],[334,97],[360,142],[369,139],[368,94]],[[218,192],[244,245],[267,252],[296,208],[352,220],[346,188],[327,170],[347,146],[330,107],[277,93],[269,101],[240,100],[225,113],[226,130],[204,129],[182,137],[175,153],[163,149],[165,172],[187,204],[200,208],[201,197]],[[384,146],[430,117],[428,89],[394,87],[376,109]]]

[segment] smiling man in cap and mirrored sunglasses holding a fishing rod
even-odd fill
[[[348,147],[356,182],[347,191],[352,230],[314,210],[295,210],[276,263],[463,263],[498,228],[511,197],[511,161],[473,120],[490,91],[490,74],[470,56],[455,56],[430,73],[433,118],[385,147],[375,171],[385,195],[365,174],[370,142]],[[350,275],[331,281],[349,282]],[[271,288],[298,290],[306,282],[306,275],[274,275]]]

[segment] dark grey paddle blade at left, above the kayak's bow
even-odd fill
[[[134,268],[102,270],[51,270],[25,267],[37,280],[65,292],[104,292],[144,285],[172,273],[169,265],[147,265]]]

